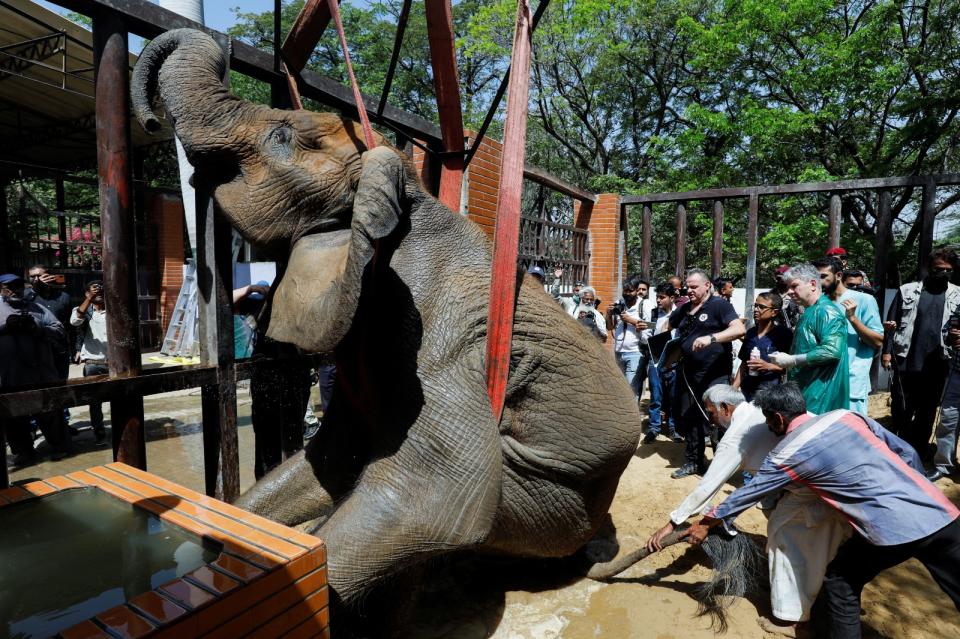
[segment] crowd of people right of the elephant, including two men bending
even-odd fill
[[[691,543],[715,526],[735,534],[733,519],[756,504],[769,517],[766,630],[859,637],[864,585],[911,557],[960,609],[960,511],[932,483],[956,471],[956,264],[953,251],[930,254],[923,278],[899,288],[883,321],[866,274],[831,249],[777,268],[774,288],[753,302],[749,329],[730,303],[730,279],[691,269],[682,286],[679,278],[657,285],[650,304],[650,284],[627,278],[605,319],[638,401],[648,380],[643,445],[666,422],[685,446],[672,476],[703,476],[649,550],[701,514],[685,533]],[[665,347],[655,339],[663,333]],[[671,344],[679,362],[667,355]],[[868,416],[875,364],[892,372],[887,427]],[[710,508],[728,481],[742,487]]]

